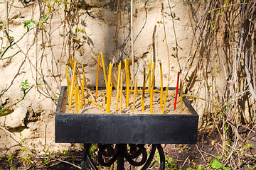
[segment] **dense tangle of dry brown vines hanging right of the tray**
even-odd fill
[[[202,125],[213,123],[222,137],[223,152],[229,153],[223,162],[237,169],[240,164],[234,161],[235,157],[242,159],[246,154],[235,149],[238,142],[247,142],[238,129],[242,125],[252,127],[255,122],[256,1],[208,0],[187,4],[193,38],[182,78],[188,84],[186,91],[193,92],[195,83],[204,87],[194,87],[194,93],[206,94],[208,99]],[[196,11],[202,7],[199,15]],[[228,144],[230,134],[235,136]],[[230,151],[227,145],[232,148]]]

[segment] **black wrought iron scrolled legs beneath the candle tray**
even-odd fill
[[[86,160],[93,170],[97,170],[97,167],[90,157],[89,149],[91,146],[92,144],[84,144],[84,150],[82,153],[82,170],[87,169]],[[151,145],[149,157],[143,144],[98,144],[98,147],[99,152],[97,154],[97,160],[102,166],[111,166],[117,161],[117,170],[124,170],[124,159],[126,159],[127,162],[133,166],[144,165],[142,170],[146,170],[151,164],[157,148],[160,157],[160,170],[164,170],[165,168],[164,150],[161,147],[161,144]],[[142,155],[142,159],[140,159],[139,162],[134,161],[134,159],[138,158],[140,155]]]

